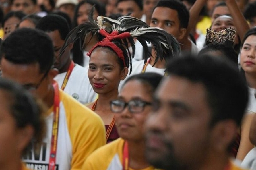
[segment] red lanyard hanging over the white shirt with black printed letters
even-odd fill
[[[57,141],[58,141],[58,127],[59,127],[59,87],[57,82],[55,81],[53,82],[53,88],[54,88],[53,123],[52,123],[51,151],[50,151],[48,170],[55,169]]]

